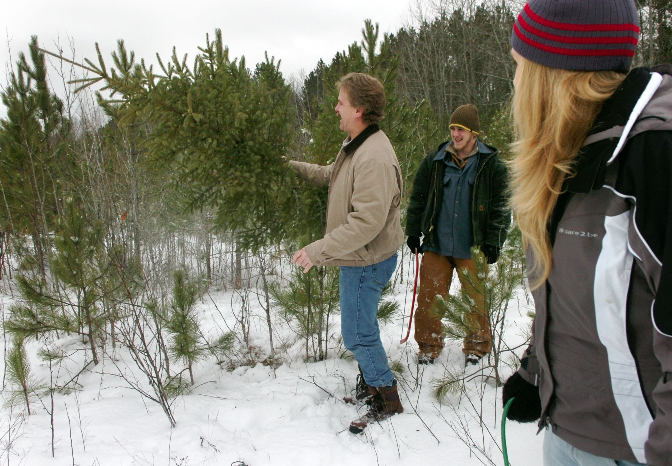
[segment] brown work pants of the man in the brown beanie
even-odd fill
[[[445,296],[448,294],[453,271],[465,267],[475,275],[476,267],[471,259],[446,257],[432,251],[425,251],[423,254],[420,264],[418,304],[415,314],[415,341],[421,354],[435,358],[444,348],[443,324],[433,310],[433,303],[436,295]],[[485,311],[485,301],[474,287],[462,280],[462,277],[460,277],[460,283],[475,303],[470,316],[467,316],[467,318],[472,319],[474,328],[479,329],[467,334],[462,352],[482,357],[490,353],[493,339],[489,317]]]

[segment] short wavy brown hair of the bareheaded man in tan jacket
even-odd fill
[[[336,89],[345,89],[350,105],[364,109],[364,123],[380,123],[385,118],[385,89],[378,79],[364,73],[348,73],[337,81]]]

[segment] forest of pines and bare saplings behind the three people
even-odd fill
[[[635,66],[672,62],[670,2],[637,3]],[[194,385],[198,361],[282,365],[289,343],[278,341],[276,314],[294,328],[305,361],[343,357],[329,326],[337,271],[284,267],[323,236],[327,199],[286,159],[333,162],[345,137],[335,83],[351,71],[385,87],[381,127],[403,170],[404,206],[459,105],[478,107],[480,138],[506,158],[509,38],[522,4],[430,0],[394,34],[366,20],[347,50],[289,82],[282,57],[249,66],[229,56],[218,31],[204,32],[198,56],[175,51],[157,56],[158,66],[122,41],[112,57],[75,62],[74,48],[49,50],[34,38],[1,87],[0,290],[13,302],[2,312],[3,389],[12,403],[30,414],[37,403],[49,411],[50,399],[53,413],[54,393],[77,389],[77,376],[120,345],[146,383],[126,382],[174,426],[171,399]],[[62,97],[48,73],[60,77]],[[407,256],[401,250],[401,263]],[[408,278],[402,269],[396,279]],[[209,290],[237,295],[234,326],[213,333],[194,316]],[[250,341],[252,299],[267,325],[263,348]],[[386,306],[381,316],[395,318],[398,308]],[[26,342],[56,367],[70,357],[54,344],[64,335],[81,338],[81,371],[32,386]]]

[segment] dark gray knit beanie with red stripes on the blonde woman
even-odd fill
[[[573,71],[627,73],[639,38],[634,0],[530,0],[513,25],[513,50]]]

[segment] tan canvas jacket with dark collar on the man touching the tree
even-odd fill
[[[389,259],[401,246],[401,168],[378,125],[349,137],[327,166],[290,161],[298,175],[329,185],[325,237],[306,246],[314,265],[364,267]]]

